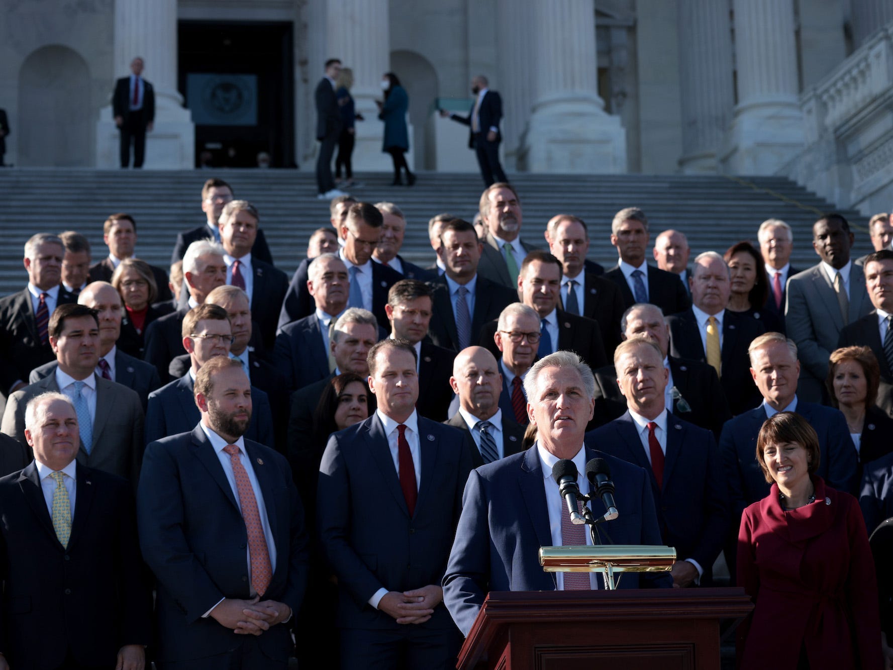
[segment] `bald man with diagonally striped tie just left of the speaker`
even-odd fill
[[[459,411],[444,423],[471,433],[474,467],[521,451],[524,428],[499,408],[502,375],[493,354],[483,347],[464,348],[453,361],[449,383]]]

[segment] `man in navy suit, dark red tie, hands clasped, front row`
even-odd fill
[[[471,437],[416,413],[407,340],[380,341],[368,360],[378,410],[330,437],[317,495],[322,549],[338,577],[341,667],[447,670],[461,639],[440,581]]]

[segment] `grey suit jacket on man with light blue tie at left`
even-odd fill
[[[117,474],[136,486],[143,461],[143,406],[136,391],[98,375],[95,378],[93,448],[88,454],[84,445],[80,445],[78,463],[93,470]],[[27,446],[25,407],[31,398],[47,391],[59,391],[54,374],[13,393],[6,403],[0,430]],[[31,448],[27,448],[30,461],[33,456]]]

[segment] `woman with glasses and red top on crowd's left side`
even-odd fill
[[[112,286],[121,294],[124,315],[117,347],[142,359],[146,353],[146,328],[164,313],[152,306],[158,286],[152,268],[138,258],[124,258],[112,274]]]

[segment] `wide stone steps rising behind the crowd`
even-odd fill
[[[305,255],[310,233],[329,225],[328,203],[316,199],[313,174],[290,170],[116,171],[81,169],[0,170],[0,296],[21,289],[25,272],[22,245],[35,232],[78,230],[90,239],[94,260],[106,249],[102,224],[109,214],[127,212],[137,221],[139,257],[169,263],[179,230],[204,222],[200,191],[205,179],[230,182],[236,196],[251,200],[261,214],[277,266],[290,275]],[[430,216],[450,212],[471,221],[482,190],[477,174],[419,174],[413,188],[391,187],[390,175],[359,174],[364,184],[353,194],[372,203],[390,200],[406,214],[409,226],[403,255],[416,263],[433,262],[428,242]],[[513,175],[522,198],[522,236],[545,244],[542,230],[554,214],[577,214],[587,222],[590,257],[616,262],[609,241],[613,214],[636,205],[648,215],[652,241],[661,230],[676,228],[689,236],[692,254],[707,249],[721,253],[740,239],[756,241],[760,222],[770,217],[794,229],[794,262],[814,264],[812,223],[834,206],[774,177],[651,175]],[[855,211],[843,214],[856,234],[854,256],[870,251],[867,222]]]

